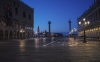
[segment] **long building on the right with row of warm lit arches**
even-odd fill
[[[85,26],[78,24],[78,36],[84,36],[85,29],[87,37],[100,38],[100,0],[94,0],[91,7],[77,18],[77,22],[79,23],[80,21],[83,21],[83,18],[90,23]]]

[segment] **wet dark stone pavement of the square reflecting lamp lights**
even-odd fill
[[[0,40],[0,62],[100,62],[100,42],[73,38]]]

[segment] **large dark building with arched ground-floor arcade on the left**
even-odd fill
[[[33,37],[34,8],[21,0],[0,0],[0,39]]]

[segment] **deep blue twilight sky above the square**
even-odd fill
[[[51,21],[51,32],[69,32],[69,19],[72,29],[77,29],[77,17],[80,17],[94,0],[22,0],[34,8],[34,31],[48,30]]]

